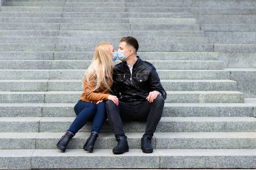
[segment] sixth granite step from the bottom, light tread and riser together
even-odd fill
[[[166,91],[236,91],[233,80],[165,80]],[[0,91],[82,91],[81,79],[0,80]]]

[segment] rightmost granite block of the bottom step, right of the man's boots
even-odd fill
[[[157,150],[161,168],[255,168],[256,150]]]

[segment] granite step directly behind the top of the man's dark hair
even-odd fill
[[[99,43],[120,42],[120,37],[11,37],[2,36],[0,43]],[[208,44],[207,37],[136,37],[138,42],[154,43],[180,43],[180,44]]]

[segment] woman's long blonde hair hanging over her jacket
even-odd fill
[[[96,46],[92,63],[87,68],[82,79],[83,86],[85,81],[87,81],[88,85],[91,85],[91,83],[95,84],[95,88],[93,88],[92,91],[97,91],[99,88],[104,87],[109,90],[111,89],[109,82],[113,82],[112,73],[114,63],[109,53],[109,45],[111,45],[110,42],[101,42]],[[95,79],[92,80],[92,77]],[[101,85],[103,85],[103,87],[101,87]]]

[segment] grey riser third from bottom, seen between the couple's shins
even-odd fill
[[[66,132],[71,122],[0,122],[0,132]],[[256,132],[256,122],[163,122],[156,132]],[[90,132],[92,122],[88,122],[79,132]],[[125,132],[145,132],[145,122],[123,122]],[[236,127],[236,128],[234,128]],[[101,132],[112,132],[108,122]],[[61,136],[60,136],[61,137]]]

